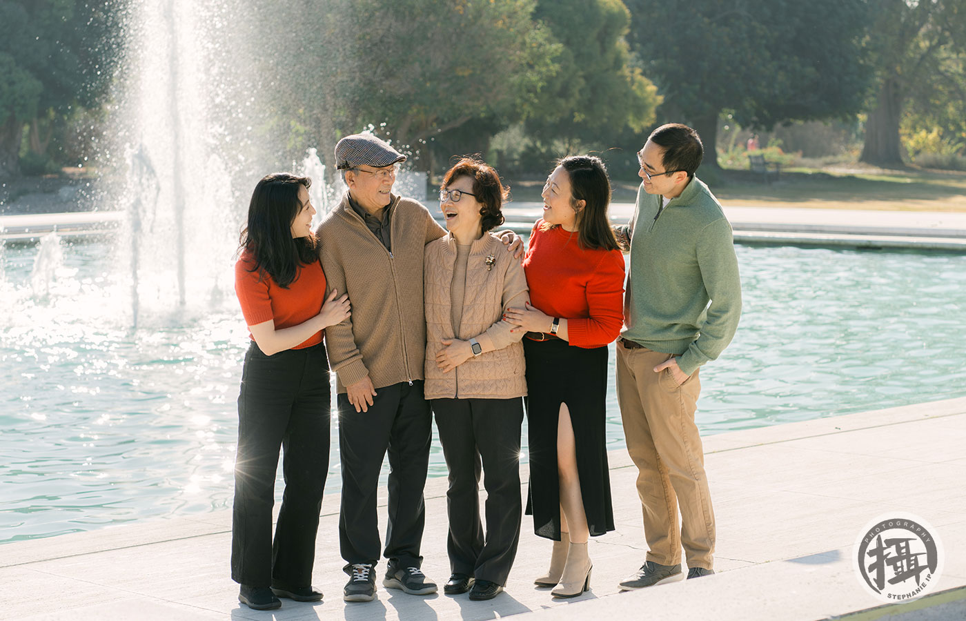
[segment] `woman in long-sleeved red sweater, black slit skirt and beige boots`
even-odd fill
[[[509,309],[526,329],[530,485],[527,513],[554,540],[535,580],[576,597],[590,586],[587,537],[613,530],[605,446],[608,344],[623,325],[624,258],[608,221],[611,183],[599,157],[561,159],[524,259],[532,305]]]

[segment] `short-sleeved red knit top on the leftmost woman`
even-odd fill
[[[243,252],[235,264],[235,293],[239,296],[245,325],[259,325],[271,319],[277,330],[299,325],[319,314],[326,301],[326,274],[321,263],[301,266],[288,289],[275,284],[263,269],[248,271],[254,265],[254,257],[249,252]],[[321,342],[322,330],[292,349],[301,350]]]

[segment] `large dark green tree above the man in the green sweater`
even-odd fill
[[[746,127],[844,118],[864,102],[865,0],[628,0],[630,42],[664,97],[662,118],[695,127],[718,167],[718,118]]]

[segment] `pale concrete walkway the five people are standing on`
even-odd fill
[[[546,569],[550,542],[535,537],[525,518],[507,590],[490,602],[441,593],[416,597],[380,585],[376,601],[345,604],[339,497],[332,494],[316,550],[314,581],[326,593],[321,603],[284,601],[270,612],[241,607],[238,586],[228,578],[231,515],[222,511],[0,546],[0,619],[963,619],[963,446],[966,398],[704,438],[718,520],[718,574],[643,591],[617,589],[642,562],[644,544],[637,470],[625,451],[615,450],[617,529],[591,540],[591,591],[575,600],[555,601],[532,585]],[[449,575],[445,487],[441,478],[426,486],[423,569],[440,585]],[[383,514],[384,496],[383,490]],[[933,595],[883,608],[853,571],[853,544],[868,521],[896,511],[931,522],[945,549],[945,568]]]

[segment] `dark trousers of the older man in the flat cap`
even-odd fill
[[[423,382],[376,389],[373,405],[357,412],[345,393],[338,397],[342,507],[339,546],[348,563],[379,562],[376,496],[379,473],[389,454],[389,516],[384,556],[394,567],[419,567],[426,505],[423,488],[429,466],[432,415]]]

